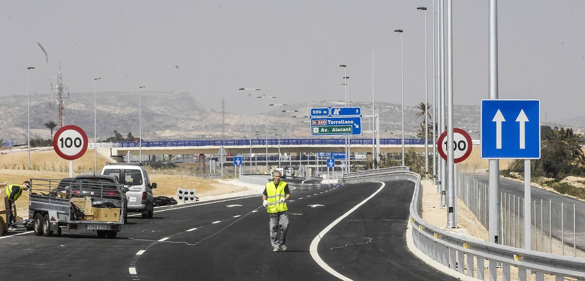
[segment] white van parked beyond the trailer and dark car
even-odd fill
[[[128,212],[142,213],[142,218],[152,218],[152,189],[156,189],[156,183],[150,183],[142,164],[108,163],[102,169],[102,174],[117,177],[119,183],[128,187]]]

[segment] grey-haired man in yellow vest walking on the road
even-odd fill
[[[280,180],[282,176],[280,171],[274,170],[272,172],[273,181],[266,184],[264,194],[262,195],[263,205],[267,207],[267,212],[270,217],[270,244],[273,247],[273,252],[278,252],[278,249],[287,251],[286,237],[288,231],[288,208],[285,200],[291,198],[288,184]],[[278,229],[280,229],[280,237],[278,237]]]

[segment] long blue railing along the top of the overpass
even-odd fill
[[[345,139],[252,139],[252,145],[345,145]],[[371,139],[350,139],[351,145],[371,145]],[[374,142],[375,143],[375,142]],[[402,139],[380,139],[380,145],[401,145]],[[424,145],[424,139],[404,139],[405,145]],[[136,148],[137,142],[115,142],[115,147]],[[249,139],[212,140],[143,140],[143,148],[167,146],[230,146],[250,145]]]

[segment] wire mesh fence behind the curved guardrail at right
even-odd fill
[[[457,174],[457,197],[488,228],[488,186],[466,174]],[[525,248],[524,198],[500,193],[500,242]],[[585,258],[585,207],[552,200],[530,204],[531,249]]]

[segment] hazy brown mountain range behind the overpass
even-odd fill
[[[139,95],[136,92],[99,92],[96,105],[97,138],[106,139],[116,130],[123,136],[132,132],[139,135]],[[0,139],[26,143],[26,96],[14,95],[2,98],[0,104]],[[35,94],[30,96],[30,134],[31,138],[50,138],[49,129],[43,126],[48,121],[57,122],[56,98],[54,95]],[[64,124],[80,126],[88,138],[94,136],[94,93],[75,93],[64,102]],[[299,112],[281,112],[283,108],[269,111],[269,138],[312,138],[309,118],[293,118],[293,115],[309,115],[312,107],[341,107],[342,101],[314,101],[288,104],[286,109]],[[371,102],[352,102],[351,106],[362,107],[362,115],[371,115]],[[52,109],[51,109],[52,108]],[[422,118],[415,118],[419,110],[415,107],[404,108],[405,138],[417,135]],[[480,108],[476,105],[456,105],[454,110],[455,126],[470,133],[473,139],[480,138]],[[252,116],[253,138],[266,138],[265,112]],[[380,114],[380,138],[401,137],[401,106],[380,102],[376,104],[376,114]],[[362,118],[362,131],[371,131],[369,117]],[[204,108],[187,92],[142,92],[142,138],[146,140],[180,139],[243,139],[250,134],[250,116],[225,112],[225,125],[222,112]],[[585,116],[548,123],[550,126],[572,126],[583,132]],[[56,128],[57,129],[57,128]],[[54,129],[54,131],[56,131]],[[257,133],[256,133],[257,132]],[[359,138],[371,138],[371,133],[363,133]]]

